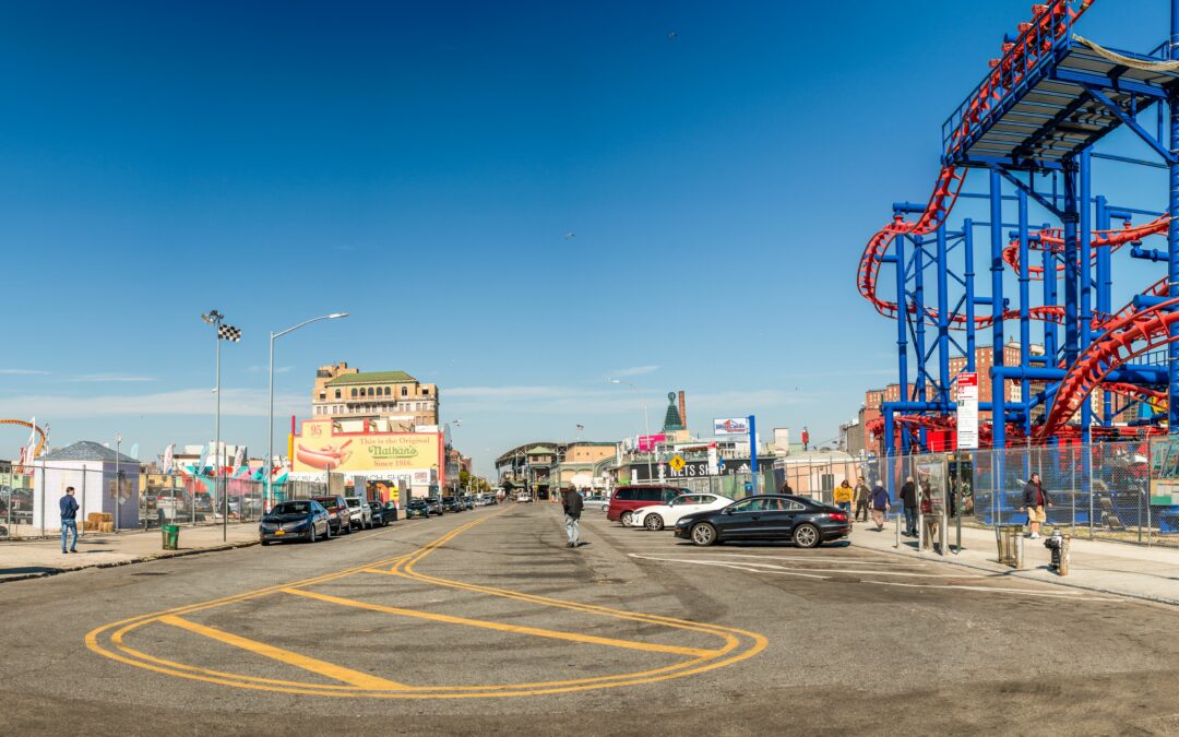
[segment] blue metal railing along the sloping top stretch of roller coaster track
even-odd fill
[[[942,124],[942,164],[955,164],[967,147],[986,133],[1005,103],[1043,78],[1045,72],[1072,46],[1073,17],[1068,2],[1052,4],[1023,31],[999,60]],[[996,94],[999,96],[996,98]]]

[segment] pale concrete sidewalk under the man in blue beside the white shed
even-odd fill
[[[228,532],[228,540],[223,541],[219,525],[182,527],[177,551],[164,550],[159,529],[119,534],[86,533],[78,538],[78,552],[68,555],[61,554],[60,538],[0,542],[0,583],[245,547],[258,542],[257,524],[233,524]]]

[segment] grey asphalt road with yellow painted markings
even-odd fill
[[[509,505],[5,584],[0,732],[1179,730],[1172,608],[854,544],[582,537]]]

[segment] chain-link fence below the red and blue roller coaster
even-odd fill
[[[943,463],[951,509],[984,527],[1028,521],[1025,487],[1039,474],[1047,526],[1073,535],[1179,546],[1179,505],[1152,504],[1151,446],[1145,441],[920,454],[862,463],[889,496],[922,468]],[[1170,501],[1166,500],[1166,501]]]

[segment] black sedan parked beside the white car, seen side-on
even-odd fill
[[[848,513],[805,496],[746,496],[711,512],[689,514],[676,522],[676,537],[697,545],[729,540],[790,540],[817,547],[851,533]]]

